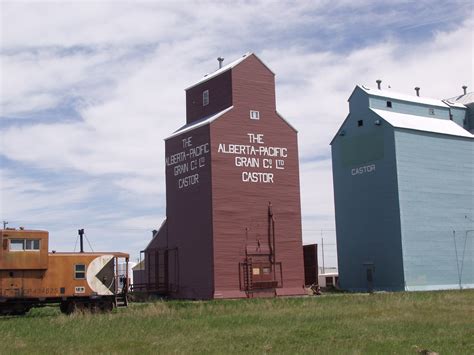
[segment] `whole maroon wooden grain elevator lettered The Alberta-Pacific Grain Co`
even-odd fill
[[[304,294],[297,131],[254,54],[186,89],[166,144],[166,215],[147,288],[171,298]]]

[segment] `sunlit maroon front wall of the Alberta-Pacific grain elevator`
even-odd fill
[[[248,241],[267,240],[269,202],[276,220],[276,261],[283,267],[284,287],[277,292],[302,294],[297,134],[276,114],[274,77],[258,59],[243,61],[232,75],[234,109],[211,124],[215,297],[244,296],[238,264]],[[260,120],[249,118],[250,109],[260,111]],[[248,133],[263,134],[264,144],[251,143]],[[281,147],[287,157],[219,153],[219,144]],[[260,167],[236,166],[236,157],[259,158]],[[263,158],[272,159],[271,168],[263,168]],[[275,159],[284,161],[284,169],[276,169]],[[273,183],[244,182],[243,172],[273,174]]]

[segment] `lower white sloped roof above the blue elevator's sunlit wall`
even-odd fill
[[[371,110],[395,128],[474,138],[474,135],[451,120],[408,115],[385,110]]]

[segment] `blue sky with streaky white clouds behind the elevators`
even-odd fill
[[[469,1],[1,2],[0,218],[85,228],[133,259],[165,216],[163,138],[184,88],[246,52],[299,129],[303,239],[335,265],[329,142],[356,84],[446,98],[473,85]],[[323,230],[321,232],[321,230]]]

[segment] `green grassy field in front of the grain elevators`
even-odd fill
[[[53,307],[0,318],[0,353],[474,354],[474,291]]]

